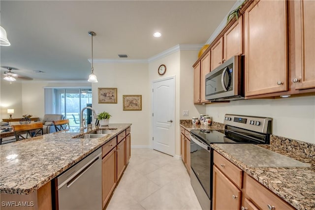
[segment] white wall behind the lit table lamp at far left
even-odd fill
[[[12,118],[22,117],[22,84],[20,82],[0,81],[0,119],[8,119],[7,109],[14,109]]]

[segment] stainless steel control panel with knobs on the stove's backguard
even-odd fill
[[[226,114],[224,124],[260,133],[271,133],[271,118]]]

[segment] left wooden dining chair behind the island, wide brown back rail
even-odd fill
[[[43,135],[43,123],[11,125],[16,141]],[[26,137],[23,135],[26,134]]]

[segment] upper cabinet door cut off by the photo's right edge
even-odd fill
[[[315,88],[315,1],[295,0],[295,89]],[[295,80],[294,80],[295,79]]]

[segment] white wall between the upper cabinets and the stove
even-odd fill
[[[315,96],[208,104],[207,114],[221,123],[224,114],[271,117],[272,134],[315,144]]]

